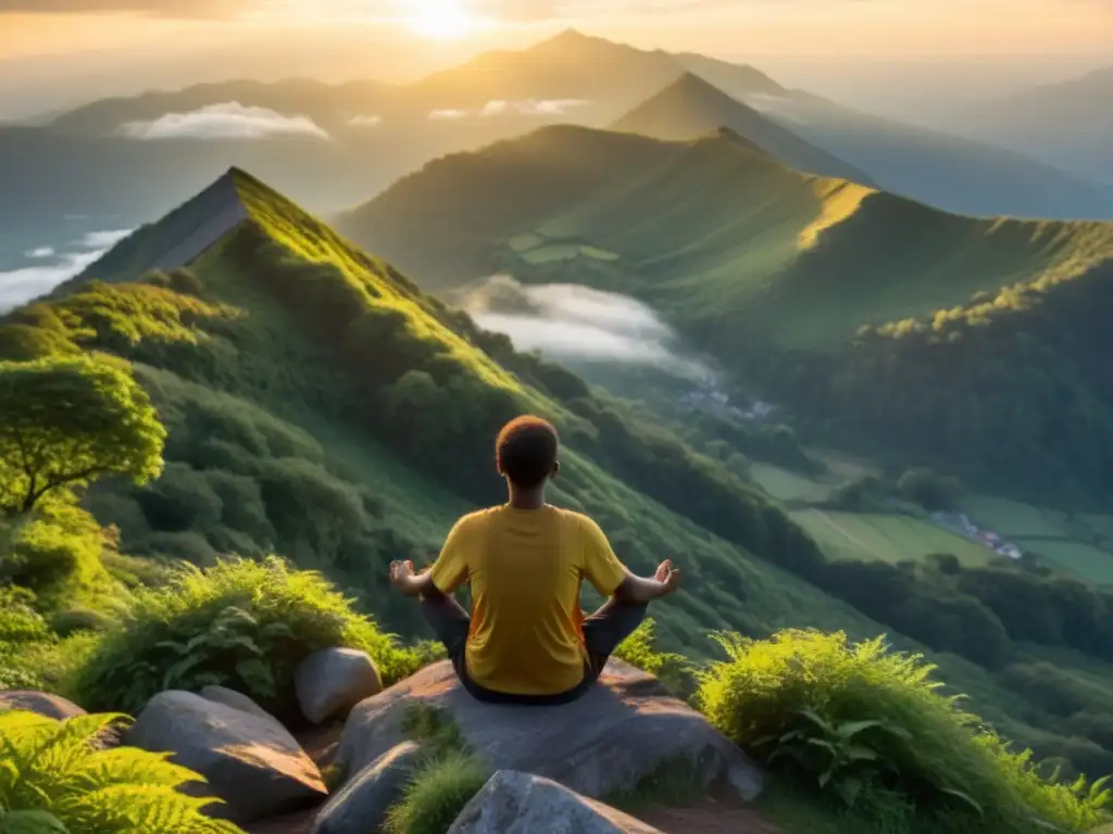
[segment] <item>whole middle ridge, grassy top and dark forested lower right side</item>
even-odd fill
[[[1093,361],[1113,225],[949,215],[729,131],[552,128],[431,163],[341,228],[434,291],[505,271],[633,295],[839,441],[1043,499],[1113,483]]]

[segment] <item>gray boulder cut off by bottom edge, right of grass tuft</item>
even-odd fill
[[[621,811],[552,780],[499,771],[472,797],[447,834],[662,834]]]

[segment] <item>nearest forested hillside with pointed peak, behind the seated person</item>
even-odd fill
[[[1033,666],[1055,652],[1065,668],[1104,674],[1109,594],[1002,566],[833,562],[746,480],[746,456],[815,465],[791,431],[702,420],[680,439],[479,329],[240,171],[7,316],[0,356],[12,385],[62,370],[85,379],[66,363],[86,359],[128,370],[165,426],[165,466],[98,469],[135,483],[100,480],[80,504],[96,478],[65,456],[45,480],[9,473],[23,499],[4,505],[4,577],[59,634],[109,622],[120,584],[157,585],[183,560],[276,552],[323,570],[386,628],[421,635],[414,607],[387,593],[386,565],[430,563],[455,517],[503,499],[491,443],[532,411],[567,441],[552,500],[595,517],[636,569],[666,557],[683,566],[683,590],[654,610],[666,648],[706,657],[720,629],[888,632],[899,647],[934,649],[947,683],[1006,736],[1068,771],[1113,771],[1106,736],[1091,733],[1104,726],[1104,696],[1075,686],[1064,705]],[[35,389],[19,390],[9,400],[27,413],[9,424],[42,421]],[[58,437],[88,428],[50,425]],[[39,494],[36,483],[52,486]]]

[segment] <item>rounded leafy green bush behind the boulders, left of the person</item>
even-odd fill
[[[367,652],[387,683],[420,663],[317,573],[275,557],[224,560],[207,570],[184,566],[166,587],[136,590],[80,669],[75,692],[87,708],[135,713],[162,689],[221,684],[285,715],[294,708],[297,665],[334,646]]]

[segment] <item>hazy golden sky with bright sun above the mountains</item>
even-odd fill
[[[0,0],[0,118],[237,78],[406,82],[569,27],[750,63],[786,87],[920,121],[1113,64],[1113,4],[1090,0],[1007,9],[1003,0],[930,9],[910,0],[422,0],[408,12],[327,0],[312,16],[303,0],[178,0],[160,16],[127,11],[144,0],[95,0],[100,13],[65,12],[77,4]]]

